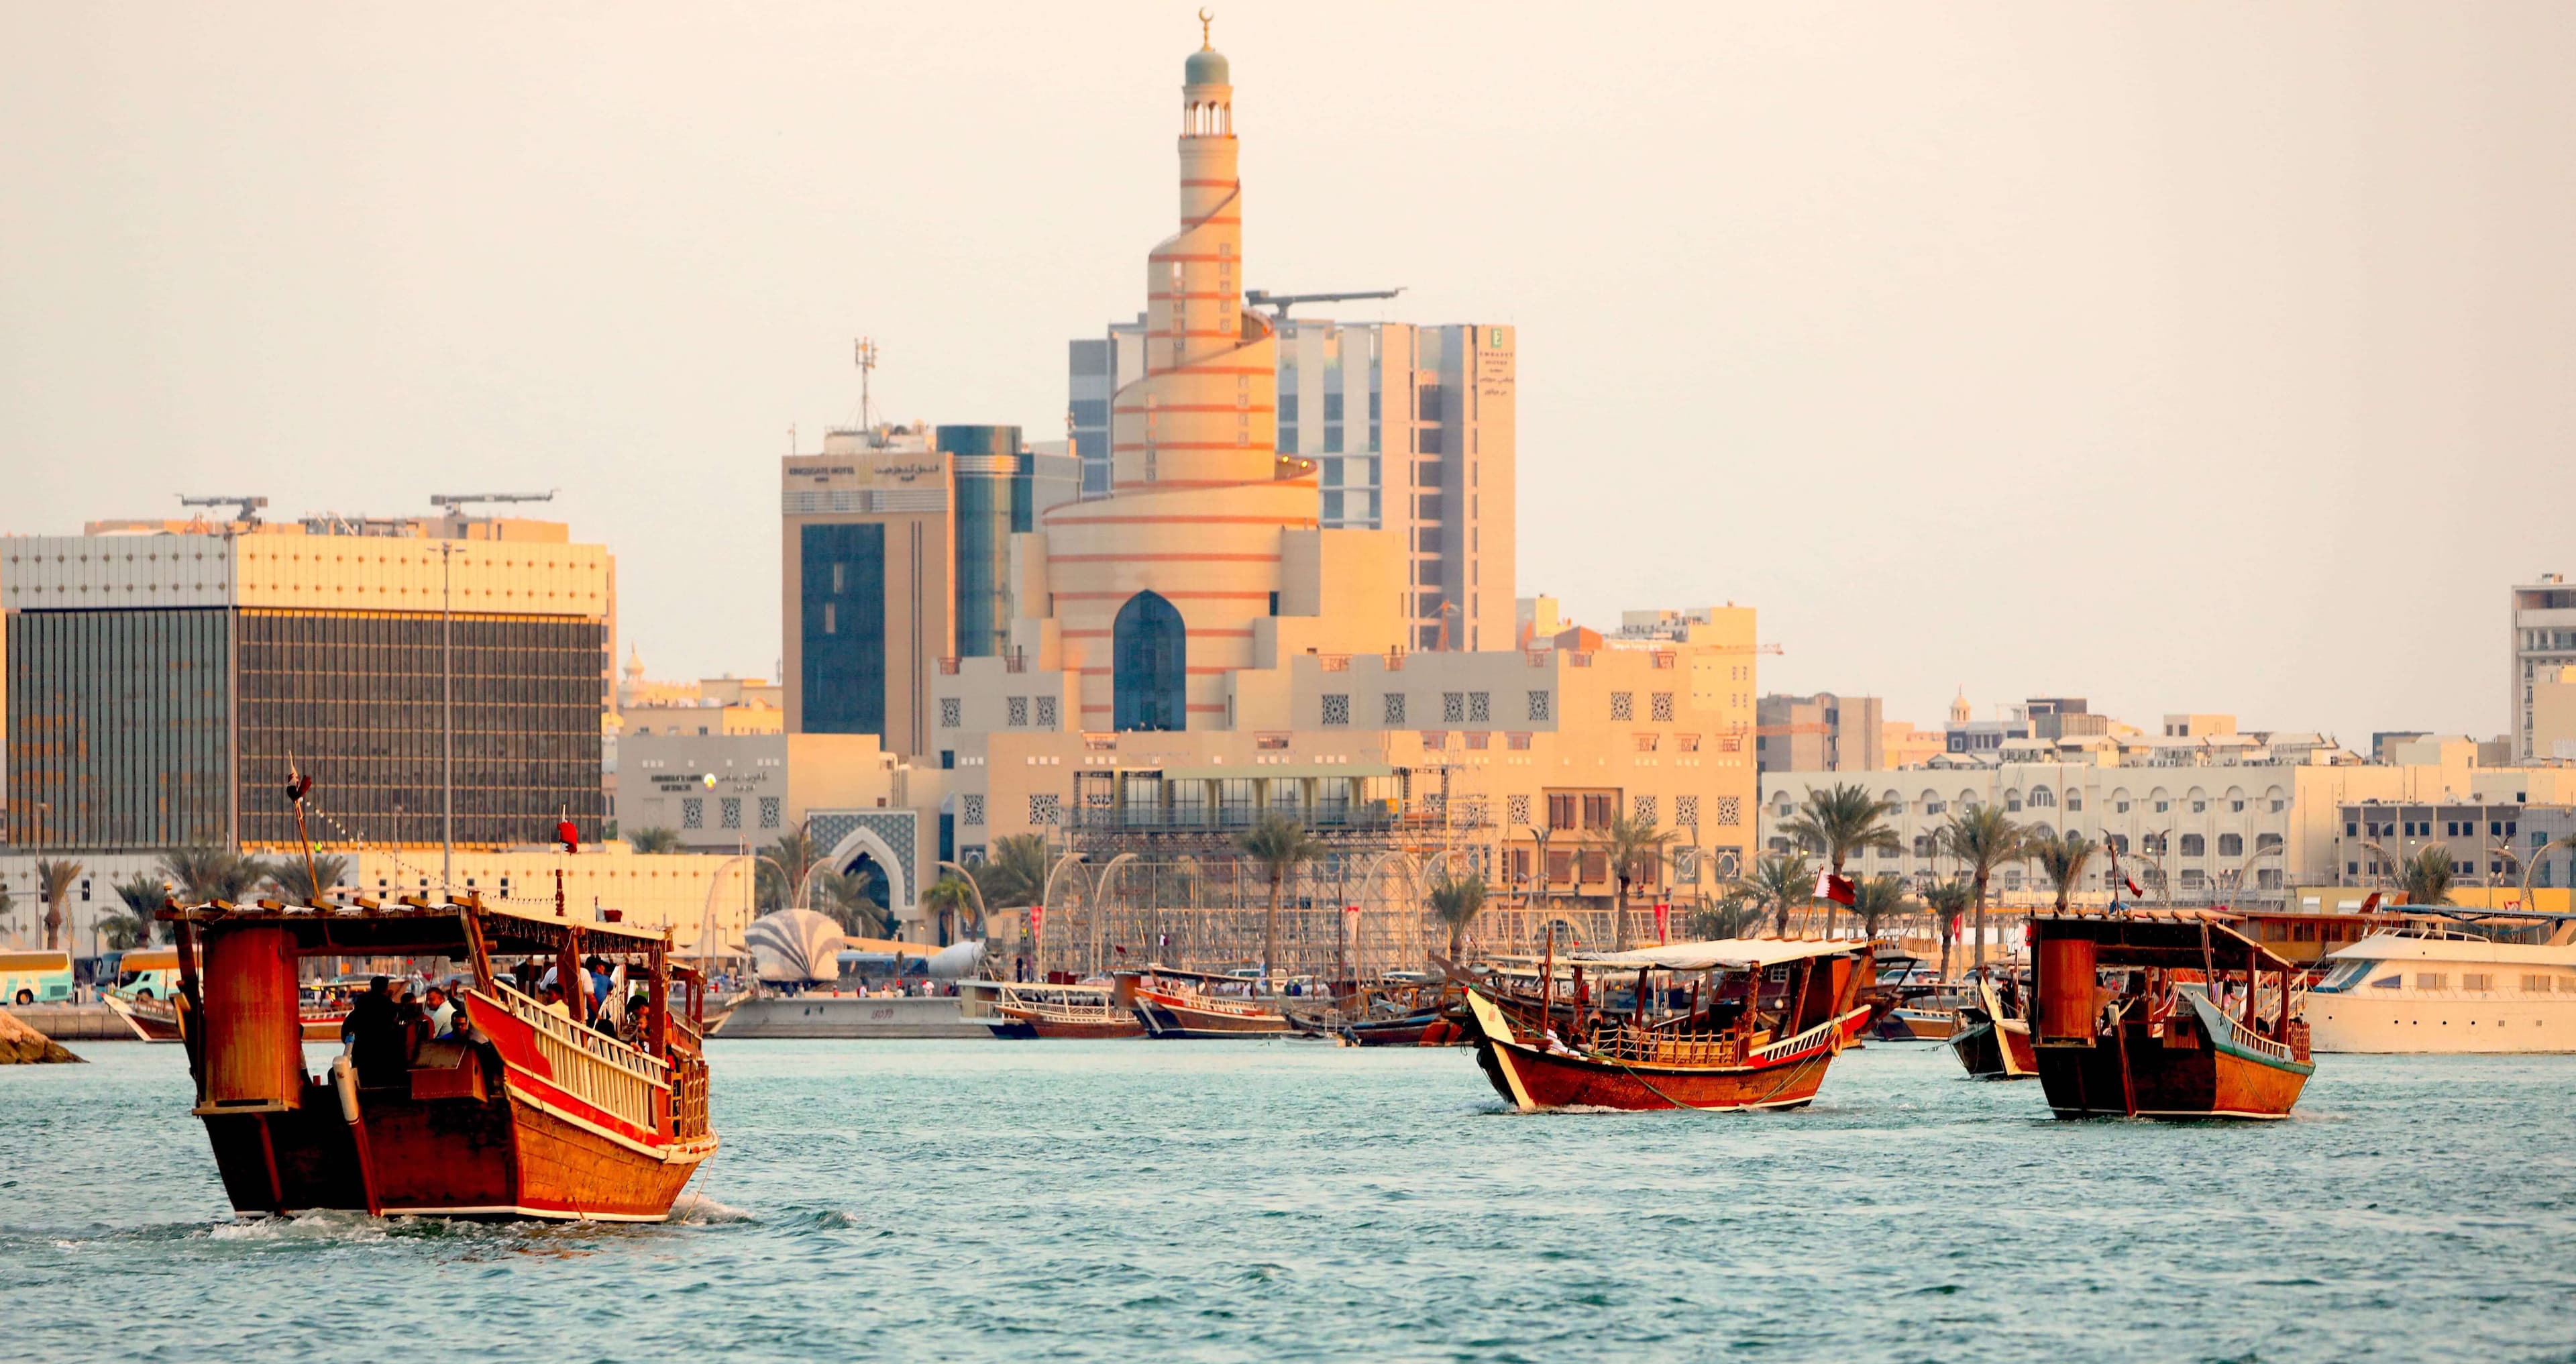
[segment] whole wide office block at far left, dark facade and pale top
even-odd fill
[[[523,518],[118,521],[0,541],[8,843],[459,846],[603,815],[608,549]],[[451,696],[443,699],[443,696]]]

